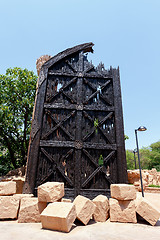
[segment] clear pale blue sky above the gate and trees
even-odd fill
[[[0,74],[90,41],[95,65],[120,67],[126,148],[140,125],[140,147],[160,140],[160,0],[0,0]]]

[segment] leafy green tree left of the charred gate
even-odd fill
[[[36,82],[27,69],[10,68],[0,75],[0,166],[26,163]]]

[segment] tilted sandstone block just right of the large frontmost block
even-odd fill
[[[84,225],[87,225],[95,211],[95,204],[90,199],[81,195],[78,195],[73,203],[76,206],[77,219]]]

